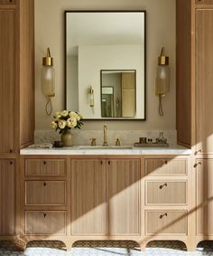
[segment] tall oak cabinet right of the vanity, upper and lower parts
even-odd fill
[[[179,144],[193,152],[191,220],[196,223],[196,246],[213,239],[213,1],[176,3],[177,130]]]

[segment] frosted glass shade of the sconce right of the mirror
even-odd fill
[[[170,68],[168,65],[158,65],[155,93],[164,96],[170,90]]]

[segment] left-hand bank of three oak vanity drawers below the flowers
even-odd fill
[[[21,234],[65,236],[70,199],[66,159],[23,159],[22,166]]]

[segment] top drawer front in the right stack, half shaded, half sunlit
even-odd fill
[[[187,175],[187,159],[145,159],[146,175]]]

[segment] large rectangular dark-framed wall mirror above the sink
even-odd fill
[[[145,119],[145,12],[65,11],[65,66],[66,109]]]

